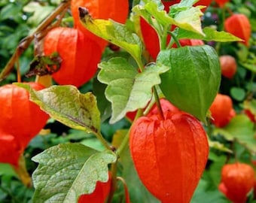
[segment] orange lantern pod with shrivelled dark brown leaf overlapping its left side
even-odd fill
[[[102,50],[96,41],[78,29],[57,27],[44,38],[44,54],[59,53],[58,71],[52,74],[60,85],[82,86],[96,74]]]

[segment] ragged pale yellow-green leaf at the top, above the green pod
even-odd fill
[[[204,35],[200,20],[203,13],[200,11],[200,7],[192,7],[185,11],[180,11],[174,18],[166,14],[166,11],[159,10],[155,2],[148,2],[144,7],[142,5],[137,5],[133,8],[133,12],[141,15],[148,23],[151,23],[152,17],[154,17],[157,23],[163,26],[163,28],[175,25],[181,29],[196,32],[199,35]],[[158,29],[157,26],[154,27],[158,34],[161,35],[161,30]]]

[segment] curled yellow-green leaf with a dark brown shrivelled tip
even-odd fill
[[[84,10],[83,10],[84,9]],[[123,48],[130,53],[136,61],[141,61],[142,41],[139,36],[131,32],[125,25],[114,20],[92,19],[85,8],[80,9],[81,23],[94,35]]]

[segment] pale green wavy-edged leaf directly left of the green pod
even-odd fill
[[[138,73],[120,57],[101,62],[99,68],[102,68],[98,74],[99,81],[108,84],[105,95],[112,105],[110,123],[122,119],[129,111],[145,108],[151,99],[152,86],[160,83],[159,74],[168,70],[164,65],[151,65]]]

